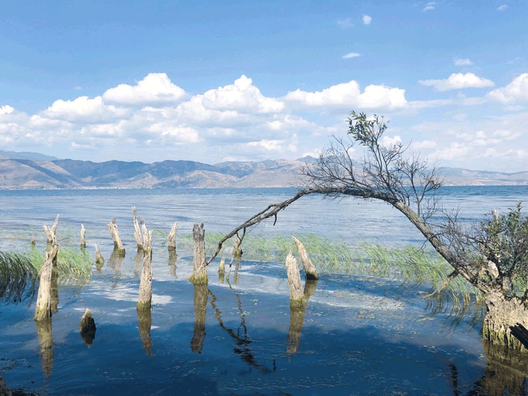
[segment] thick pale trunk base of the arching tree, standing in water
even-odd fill
[[[485,295],[487,313],[483,336],[492,344],[528,350],[528,309],[517,298],[507,299],[499,290]]]

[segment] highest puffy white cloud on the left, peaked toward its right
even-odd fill
[[[172,83],[166,73],[149,73],[135,86],[119,84],[103,93],[105,102],[124,105],[145,105],[146,103],[171,103],[181,100],[185,91]]]

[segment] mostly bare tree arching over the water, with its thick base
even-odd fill
[[[387,124],[383,117],[352,112],[348,126],[347,136],[334,136],[317,163],[301,170],[304,188],[288,200],[268,205],[225,235],[207,264],[225,241],[241,230],[245,235],[263,220],[275,218],[276,222],[278,213],[302,196],[380,200],[402,213],[449,263],[453,271],[445,285],[461,276],[482,291],[487,307],[484,337],[494,344],[527,350],[528,216],[522,215],[521,205],[478,224],[465,224],[457,211],[439,205],[442,177],[437,166],[417,153],[408,154],[406,146],[384,144]],[[354,158],[357,146],[363,155]],[[441,220],[433,222],[433,215]]]

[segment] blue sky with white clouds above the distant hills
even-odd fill
[[[446,166],[528,170],[526,21],[525,1],[4,3],[0,146],[294,159],[355,109]]]

